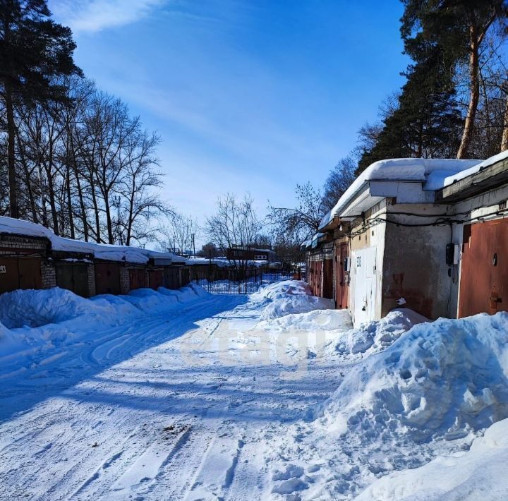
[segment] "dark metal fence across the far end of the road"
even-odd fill
[[[293,273],[286,271],[255,270],[250,274],[250,277],[245,279],[238,279],[238,274],[234,270],[222,270],[220,277],[207,272],[191,271],[192,282],[212,294],[252,294],[258,291],[261,286],[293,277]]]

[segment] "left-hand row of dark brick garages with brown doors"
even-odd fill
[[[16,289],[59,286],[90,297],[127,294],[143,287],[178,289],[190,280],[185,261],[178,261],[167,253],[147,251],[136,255],[112,246],[115,252],[109,253],[111,258],[104,259],[97,258],[92,246],[90,252],[65,250],[61,245],[59,250],[54,250],[52,239],[47,236],[32,234],[36,232],[30,232],[26,224],[23,227],[26,234],[13,233],[19,229],[12,227],[12,220],[0,219],[0,294]],[[86,250],[86,246],[83,249]],[[129,256],[135,259],[129,261]]]

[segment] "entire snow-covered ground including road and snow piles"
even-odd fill
[[[508,315],[330,308],[296,281],[0,296],[0,499],[505,497]]]

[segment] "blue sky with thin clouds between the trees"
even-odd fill
[[[75,60],[157,130],[164,196],[204,221],[217,196],[294,202],[322,185],[403,82],[399,1],[49,0]]]

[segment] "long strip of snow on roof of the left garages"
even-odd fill
[[[42,224],[24,221],[23,219],[13,219],[11,217],[0,217],[0,234],[43,237],[49,240],[52,250],[92,254],[96,259],[110,261],[145,264],[150,258],[171,260],[174,258],[171,253],[158,252],[157,250],[66,239],[63,236],[55,235],[53,231],[43,227]]]

